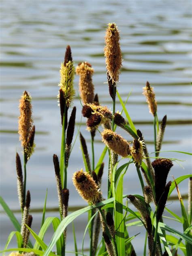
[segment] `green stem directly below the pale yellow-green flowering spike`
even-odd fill
[[[62,139],[61,139],[61,157],[60,157],[60,177],[61,177],[62,188],[66,188],[66,183],[67,183],[67,169],[65,166],[65,115],[66,115],[66,104],[64,105]]]

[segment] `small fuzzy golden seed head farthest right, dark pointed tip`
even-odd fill
[[[147,82],[146,86],[143,87],[143,95],[146,97],[146,101],[149,106],[149,112],[155,116],[157,112],[157,102],[153,89],[154,88],[150,86],[149,82]]]

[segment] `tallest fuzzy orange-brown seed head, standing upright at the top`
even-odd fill
[[[105,63],[107,72],[113,82],[119,81],[122,66],[122,52],[119,44],[119,31],[115,23],[109,23],[105,35]]]

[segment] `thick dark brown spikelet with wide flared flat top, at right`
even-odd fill
[[[169,159],[158,158],[151,164],[155,171],[156,203],[158,203],[162,193],[164,192],[167,175],[173,166],[173,163]]]

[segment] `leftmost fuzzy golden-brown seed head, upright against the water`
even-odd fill
[[[28,137],[32,129],[32,104],[31,96],[28,92],[23,92],[21,99],[19,100],[19,140],[21,141],[22,147],[25,149],[28,145]]]

